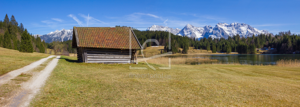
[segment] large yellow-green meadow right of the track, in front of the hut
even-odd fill
[[[299,67],[105,65],[61,56],[31,106],[299,106]],[[147,67],[148,70],[130,70]],[[129,74],[170,78],[130,78]]]

